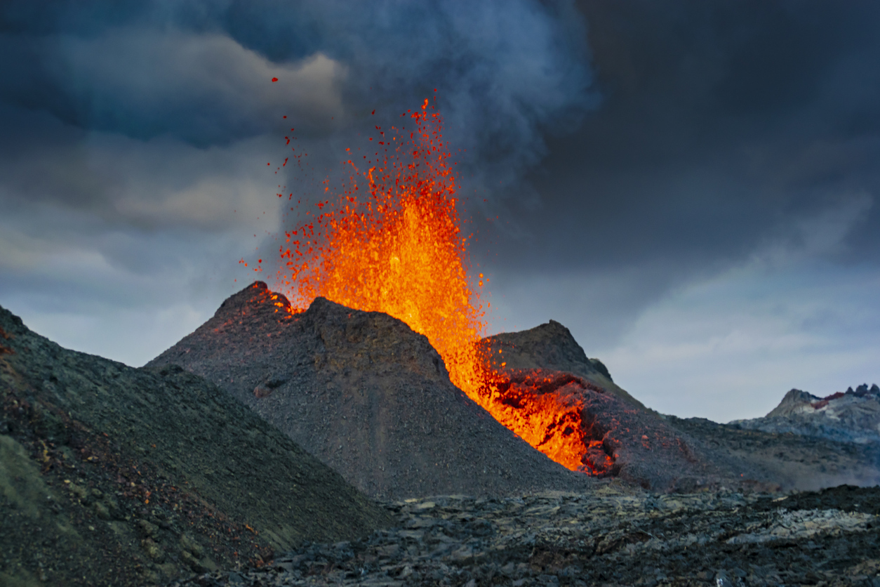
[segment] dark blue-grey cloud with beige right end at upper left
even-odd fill
[[[273,63],[218,33],[129,26],[98,36],[0,37],[0,96],[80,128],[197,146],[260,135],[282,112],[321,132],[342,114],[345,68],[315,53]],[[278,77],[278,84],[271,84]]]

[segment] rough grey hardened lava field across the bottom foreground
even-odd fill
[[[880,488],[656,495],[612,482],[387,507],[400,527],[172,585],[880,585]]]

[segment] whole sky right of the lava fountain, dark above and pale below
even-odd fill
[[[559,320],[646,405],[718,421],[877,377],[880,7],[578,8],[601,103],[490,198],[493,328]]]

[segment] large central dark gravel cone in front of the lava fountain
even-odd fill
[[[256,282],[148,364],[210,378],[370,495],[590,487],[452,385],[400,320],[324,298],[297,315],[287,307]]]

